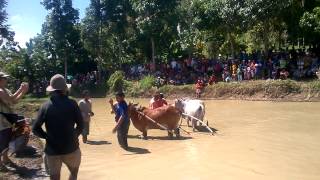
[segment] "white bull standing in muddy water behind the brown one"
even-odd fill
[[[189,121],[192,122],[192,128],[193,131],[195,131],[195,128],[197,126],[197,121],[195,119],[190,118],[190,116],[195,117],[201,121],[204,120],[205,116],[205,104],[201,100],[192,100],[192,99],[177,99],[175,100],[175,107],[179,109],[182,113],[188,115],[188,126]]]

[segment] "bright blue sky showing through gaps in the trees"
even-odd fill
[[[41,33],[47,11],[40,2],[41,0],[8,0],[7,24],[15,32],[15,41],[19,42],[21,47],[25,47],[30,38]],[[73,0],[74,8],[80,12],[80,18],[84,17],[89,3],[90,0]]]

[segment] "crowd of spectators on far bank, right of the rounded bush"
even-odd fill
[[[127,66],[123,70],[129,79],[140,79],[145,75],[157,77],[157,84],[183,85],[198,80],[206,84],[219,81],[245,81],[258,79],[303,79],[316,76],[320,60],[314,50],[242,51],[236,58],[216,59],[185,58],[171,59],[157,64],[155,71],[151,64]]]

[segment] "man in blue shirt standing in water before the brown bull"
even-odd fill
[[[115,113],[116,126],[113,128],[112,133],[117,132],[117,138],[119,145],[124,149],[128,150],[128,131],[130,126],[130,119],[128,115],[128,105],[124,100],[124,93],[116,93],[117,103],[114,105],[113,100],[110,99],[109,103],[111,105],[112,111]]]

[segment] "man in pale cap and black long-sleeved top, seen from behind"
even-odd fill
[[[51,78],[47,87],[51,97],[40,108],[33,126],[33,133],[46,140],[46,168],[54,180],[60,179],[62,163],[70,171],[69,179],[77,179],[81,162],[78,137],[83,130],[83,119],[77,102],[67,96],[68,87],[62,75]]]

